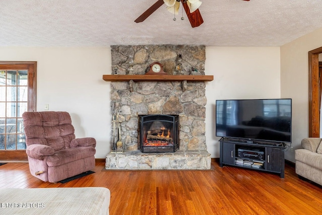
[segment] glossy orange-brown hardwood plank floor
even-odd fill
[[[303,181],[294,167],[279,175],[235,167],[211,170],[118,171],[96,164],[96,173],[65,184],[29,173],[28,163],[0,166],[0,188],[107,187],[110,214],[322,214],[322,188]]]

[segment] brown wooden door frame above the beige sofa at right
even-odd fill
[[[319,137],[320,133],[320,104],[319,104],[319,63],[318,54],[322,47],[308,52],[308,135]]]

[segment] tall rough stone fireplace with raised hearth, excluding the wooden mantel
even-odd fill
[[[158,61],[169,75],[204,75],[205,46],[111,46],[111,53],[112,74],[144,75]],[[179,54],[183,69],[175,73]],[[124,153],[108,154],[106,169],[210,169],[206,102],[205,82],[111,82],[111,114],[120,114]]]

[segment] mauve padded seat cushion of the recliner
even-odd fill
[[[96,150],[93,147],[79,147],[56,151],[55,154],[48,157],[47,165],[49,167],[60,166],[72,161],[94,156],[95,152]]]

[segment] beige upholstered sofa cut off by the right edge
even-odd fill
[[[295,150],[295,172],[322,185],[322,138],[302,139],[303,149]]]

